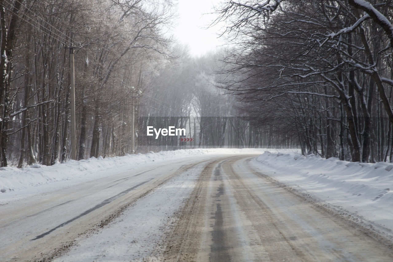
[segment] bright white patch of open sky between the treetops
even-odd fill
[[[204,14],[212,13],[219,2],[222,0],[178,0],[179,20],[174,37],[189,46],[191,55],[203,55],[222,44],[222,39],[217,39],[219,26],[204,29],[216,18],[214,14]]]

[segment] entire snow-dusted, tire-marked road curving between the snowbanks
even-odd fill
[[[0,206],[0,261],[393,261],[252,155],[152,162]]]

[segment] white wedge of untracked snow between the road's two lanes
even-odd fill
[[[76,246],[54,261],[161,261],[152,256],[154,248],[171,230],[173,215],[184,205],[203,168],[199,164],[180,173],[127,208],[110,227],[88,238],[82,236]]]

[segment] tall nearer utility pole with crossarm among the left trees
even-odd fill
[[[70,82],[71,82],[71,159],[76,160],[76,124],[75,124],[75,62],[74,62],[74,48],[79,47],[65,47],[70,49]]]

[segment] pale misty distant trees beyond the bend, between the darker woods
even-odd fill
[[[162,61],[140,100],[138,152],[189,148],[296,148],[287,134],[277,135],[268,126],[255,126],[239,111],[241,103],[224,91],[226,78],[217,74],[225,50],[191,58],[177,46],[176,61]],[[146,127],[185,128],[185,137],[147,136]]]

